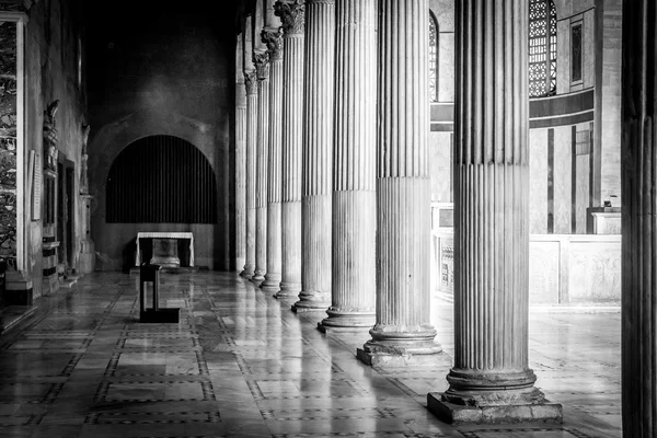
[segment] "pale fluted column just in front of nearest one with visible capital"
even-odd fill
[[[306,0],[301,293],[292,310],[331,306],[335,1]]]

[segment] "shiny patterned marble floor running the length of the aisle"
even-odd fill
[[[367,333],[326,336],[234,274],[163,274],[178,324],[140,324],[138,278],[94,274],[0,336],[0,437],[620,437],[620,314],[530,314],[530,359],[563,425],[460,426],[447,388],[451,304],[433,367],[372,369]]]

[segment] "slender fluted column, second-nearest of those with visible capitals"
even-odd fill
[[[261,288],[267,292],[277,292],[280,289],[281,269],[283,28],[265,27],[262,38],[269,51],[269,177],[267,184],[267,274]]]

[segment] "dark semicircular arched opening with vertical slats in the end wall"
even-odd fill
[[[172,136],[125,148],[107,177],[110,223],[215,223],[217,184],[206,157]]]

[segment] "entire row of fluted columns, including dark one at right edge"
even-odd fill
[[[242,275],[298,296],[297,312],[326,311],[326,333],[370,327],[357,351],[366,364],[430,364],[441,347],[429,323],[428,0],[267,3],[238,38]],[[528,2],[456,3],[456,351],[450,388],[428,406],[450,423],[561,422],[528,361]],[[623,339],[633,339],[623,415],[633,437],[657,431],[656,10],[637,0],[623,11],[636,18],[623,26],[623,251],[636,262],[623,267]]]

